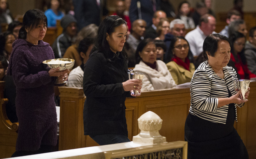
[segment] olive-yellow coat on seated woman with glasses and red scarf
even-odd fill
[[[186,70],[183,66],[178,65],[174,61],[171,61],[166,65],[177,85],[191,81],[195,71],[195,66],[193,63],[190,63],[189,66],[191,71]]]

